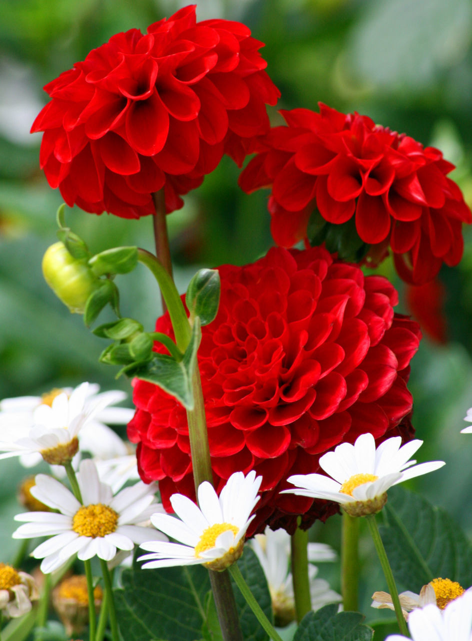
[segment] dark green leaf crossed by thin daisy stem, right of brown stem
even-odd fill
[[[273,624],[272,600],[269,588],[267,587],[264,570],[249,545],[244,546],[244,552],[238,560],[237,565],[265,616]],[[262,628],[260,622],[256,619],[251,608],[249,608],[246,599],[244,599],[233,578],[231,578],[231,582],[239,613],[242,638],[244,638],[244,641],[265,641],[267,639],[267,633],[265,633],[264,628]]]

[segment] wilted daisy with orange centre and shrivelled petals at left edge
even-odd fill
[[[36,581],[26,572],[0,563],[0,612],[5,617],[22,617],[39,598]]]

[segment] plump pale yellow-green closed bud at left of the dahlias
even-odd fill
[[[72,313],[84,313],[90,294],[100,285],[83,260],[77,260],[61,242],[51,245],[43,256],[43,276],[52,291]]]

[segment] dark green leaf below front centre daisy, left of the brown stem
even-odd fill
[[[194,641],[201,638],[208,570],[200,565],[124,570],[114,590],[116,615],[126,641]]]

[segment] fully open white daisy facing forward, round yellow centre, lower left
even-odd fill
[[[163,509],[154,503],[153,487],[136,483],[113,496],[109,485],[98,479],[95,463],[81,462],[77,475],[83,505],[62,483],[45,474],[36,474],[31,488],[38,501],[56,512],[26,512],[15,516],[24,521],[13,538],[52,536],[31,553],[43,561],[41,570],[49,574],[77,553],[81,560],[92,556],[110,561],[116,549],[132,550],[135,543],[167,540],[160,532],[140,526],[152,513]]]

